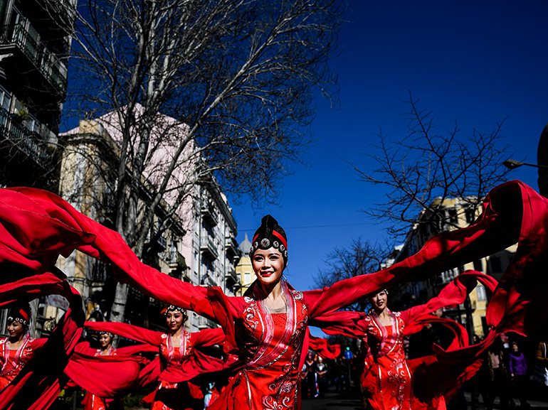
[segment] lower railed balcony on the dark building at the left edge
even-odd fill
[[[45,126],[40,126],[42,134],[46,137],[51,131]],[[36,163],[43,164],[51,158],[51,153],[47,149],[47,140],[36,131],[31,131],[26,126],[24,120],[16,114],[0,108],[0,135],[9,141],[10,145],[31,156]]]

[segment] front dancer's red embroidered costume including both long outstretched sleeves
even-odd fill
[[[436,355],[439,353],[443,358],[444,370],[450,365],[454,369],[450,374],[460,377],[468,374],[468,365],[480,357],[500,332],[515,331],[537,338],[548,336],[548,311],[543,308],[542,297],[548,291],[548,281],[541,269],[548,263],[548,231],[544,229],[548,224],[548,202],[519,181],[492,190],[485,200],[483,214],[473,225],[436,235],[417,254],[387,269],[337,282],[331,288],[307,292],[293,291],[281,280],[279,285],[272,283],[269,279],[272,273],[263,277],[259,271],[258,281],[246,298],[228,298],[218,288],[192,286],[160,274],[142,264],[119,234],[81,215],[56,195],[31,188],[17,188],[17,191],[2,190],[0,194],[0,222],[17,227],[17,230],[9,228],[0,232],[0,240],[6,244],[6,247],[0,247],[0,257],[11,252],[9,256],[16,263],[46,269],[49,265],[42,259],[31,257],[45,255],[49,258],[66,253],[67,247],[79,240],[74,238],[75,234],[81,237],[91,232],[90,237],[95,235],[93,243],[86,238],[85,244],[78,249],[112,264],[118,281],[135,286],[147,296],[191,308],[221,323],[227,335],[226,350],[239,352],[243,367],[216,401],[222,401],[217,408],[300,408],[299,392],[293,387],[302,347],[302,329],[310,319],[336,311],[391,284],[427,279],[499,252],[516,242],[515,257],[493,293],[487,311],[488,336],[478,345],[436,352]],[[56,230],[58,236],[53,236],[51,230]],[[265,232],[268,234],[268,230]],[[273,230],[269,234],[272,237]],[[259,236],[260,249],[267,251],[273,247],[270,239],[270,247],[263,241],[268,237]],[[283,241],[278,237],[276,240],[279,250]],[[38,253],[35,244],[46,247],[42,251],[45,253]],[[259,249],[255,247],[255,239],[253,245],[254,256]],[[287,258],[287,254],[283,256]],[[265,289],[263,285],[266,285]],[[275,317],[268,311],[268,308],[281,308],[279,299],[285,305],[285,326],[281,320],[274,323]],[[236,333],[236,329],[240,331]],[[438,393],[437,389],[433,390]]]

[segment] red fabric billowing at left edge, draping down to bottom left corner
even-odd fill
[[[27,231],[34,232],[27,235]],[[36,354],[0,393],[0,409],[45,409],[60,392],[59,377],[82,332],[80,295],[54,264],[59,254],[93,243],[95,236],[53,221],[33,200],[0,195],[0,306],[9,308],[43,295],[65,297],[70,308],[48,340],[35,340]],[[64,382],[61,384],[64,385]]]

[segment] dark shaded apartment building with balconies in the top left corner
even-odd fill
[[[56,192],[76,0],[0,0],[1,185]]]

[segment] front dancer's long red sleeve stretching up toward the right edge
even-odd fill
[[[419,252],[398,264],[373,274],[338,281],[328,288],[303,292],[310,316],[315,318],[349,306],[393,283],[422,281],[438,272],[494,254],[518,242],[524,236],[524,232],[520,234],[520,228],[530,236],[537,234],[532,225],[538,228],[548,222],[546,200],[519,181],[493,189],[484,208],[473,225],[431,237]],[[538,214],[531,212],[531,208]],[[540,236],[544,247],[547,235]]]

